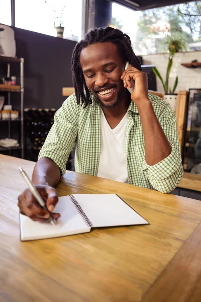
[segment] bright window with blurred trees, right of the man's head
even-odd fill
[[[113,3],[113,24],[128,33],[136,54],[201,50],[201,1],[142,12]]]

